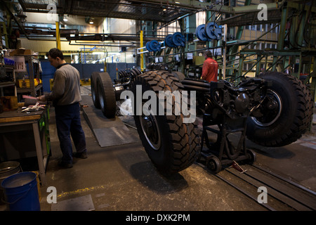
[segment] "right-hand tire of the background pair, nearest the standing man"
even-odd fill
[[[96,80],[98,86],[98,96],[100,108],[107,118],[115,117],[116,99],[113,83],[107,72],[99,72]]]

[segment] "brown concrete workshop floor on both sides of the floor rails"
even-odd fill
[[[61,152],[51,113],[52,156],[46,169],[47,184],[41,187],[41,210],[78,210],[78,205],[83,205],[81,210],[96,211],[265,210],[196,164],[172,177],[162,176],[140,141],[101,148],[86,120],[81,118],[88,158],[74,159],[74,167],[60,169]],[[135,129],[129,127],[129,130],[138,136]],[[247,146],[256,151],[257,165],[316,191],[316,136],[313,134],[306,134],[282,148],[263,148],[251,141]],[[47,203],[48,186],[56,188],[57,204]],[[84,203],[80,203],[81,197]],[[65,206],[71,201],[75,204]]]

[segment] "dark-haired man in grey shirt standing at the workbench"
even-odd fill
[[[58,165],[71,168],[73,155],[77,158],[87,158],[86,137],[80,119],[80,75],[76,68],[66,63],[59,49],[51,49],[46,56],[51,65],[57,69],[54,85],[50,93],[37,97],[37,100],[53,101],[58,139],[62,150],[62,159]],[[77,150],[74,154],[70,134]]]

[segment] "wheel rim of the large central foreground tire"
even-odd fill
[[[143,134],[150,144],[150,147],[154,150],[159,150],[161,146],[161,138],[158,123],[150,108],[148,108],[148,112],[150,112],[150,115],[139,116],[140,126],[142,127]]]

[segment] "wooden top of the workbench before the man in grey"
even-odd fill
[[[0,123],[39,120],[45,110],[39,110],[30,113],[22,113],[21,108],[19,108],[18,110],[14,111],[6,111],[4,113],[0,113]]]

